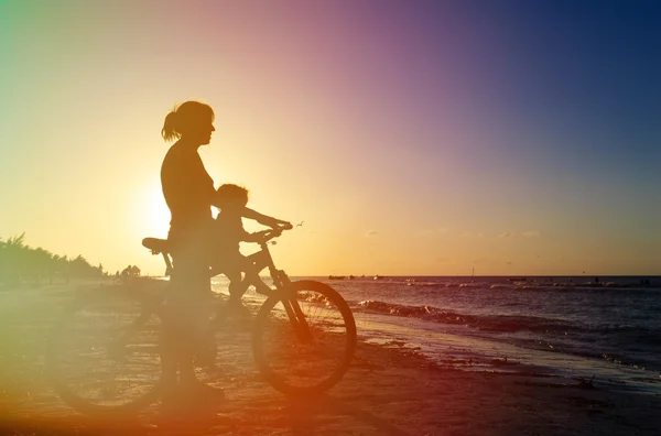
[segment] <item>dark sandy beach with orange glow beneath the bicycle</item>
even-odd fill
[[[110,282],[0,290],[2,435],[659,435],[661,397],[595,380],[443,368],[401,342],[359,341],[342,382],[315,400],[288,399],[260,379],[249,331],[227,335],[225,362],[201,379],[226,400],[163,419],[99,421],[64,404],[44,375],[44,348],[63,304]],[[153,284],[150,284],[153,285]],[[360,333],[359,333],[360,340]],[[497,363],[497,362],[496,362]]]

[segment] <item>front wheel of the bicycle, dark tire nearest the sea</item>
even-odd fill
[[[296,327],[296,319],[291,319],[283,295],[295,295],[306,328]],[[348,304],[330,286],[293,282],[291,290],[269,297],[260,308],[252,349],[258,369],[280,392],[321,393],[349,368],[356,350],[356,323]]]

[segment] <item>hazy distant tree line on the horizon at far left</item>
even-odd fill
[[[19,284],[24,281],[40,283],[66,281],[69,277],[101,277],[107,275],[104,266],[93,266],[83,257],[69,259],[53,254],[41,247],[25,244],[25,233],[0,238],[0,283]]]

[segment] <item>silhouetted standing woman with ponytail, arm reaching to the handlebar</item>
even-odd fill
[[[213,226],[214,181],[206,172],[198,149],[208,144],[214,128],[214,111],[204,103],[186,101],[165,117],[161,134],[165,141],[177,140],[161,166],[161,186],[170,208],[167,239],[173,258],[171,294],[166,309],[176,323],[165,331],[162,356],[166,386],[164,402],[185,396],[221,395],[195,379],[193,355],[196,339],[206,327],[205,308],[210,298],[207,241]],[[246,208],[245,216],[264,226],[278,221]],[[178,383],[177,383],[178,369]]]

